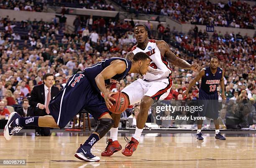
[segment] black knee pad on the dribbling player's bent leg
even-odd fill
[[[111,118],[101,118],[100,124],[97,125],[95,132],[102,138],[114,125],[114,120]]]

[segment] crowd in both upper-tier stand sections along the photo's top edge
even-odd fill
[[[227,3],[211,3],[209,0],[160,0],[138,1],[117,0],[125,10],[130,13],[145,13],[166,15],[180,23],[197,25],[222,26],[233,28],[254,29],[256,5],[251,6],[246,2],[228,0]],[[47,5],[115,10],[111,3],[105,0],[0,0],[0,8],[13,10],[27,10],[46,12]]]

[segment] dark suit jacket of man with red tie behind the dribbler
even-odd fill
[[[51,87],[51,100],[59,93],[59,89],[55,86]],[[45,114],[45,109],[41,110],[36,107],[38,103],[44,104],[45,102],[45,95],[44,95],[44,83],[41,85],[34,86],[33,90],[31,91],[31,98],[29,100],[29,104],[33,107],[35,115],[38,114]],[[43,115],[40,115],[43,116]]]

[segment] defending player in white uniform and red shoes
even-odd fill
[[[131,52],[127,53],[126,58],[131,60],[136,53],[144,52],[151,58],[151,64],[148,73],[143,76],[143,79],[134,81],[122,90],[122,92],[128,96],[131,105],[141,102],[141,111],[136,119],[137,125],[135,134],[131,140],[125,137],[128,142],[125,149],[122,151],[125,156],[131,156],[136,150],[148,117],[148,109],[150,106],[156,101],[166,98],[172,88],[172,70],[166,58],[170,63],[182,69],[195,71],[200,69],[197,63],[190,65],[187,61],[177,58],[165,41],[149,40],[145,25],[135,25],[134,36],[138,44],[132,48]],[[101,153],[102,156],[113,155],[113,153],[122,149],[122,146],[117,140],[120,115],[112,114],[111,116],[115,124],[114,127],[110,129],[111,139],[107,140],[108,145],[105,151]]]

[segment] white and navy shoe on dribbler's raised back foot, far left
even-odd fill
[[[23,128],[20,126],[20,117],[21,116],[17,112],[10,114],[4,130],[4,137],[6,140],[10,140],[13,133],[18,133]]]

